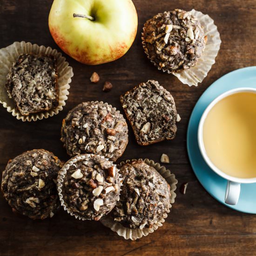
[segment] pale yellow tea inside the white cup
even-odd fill
[[[211,162],[238,178],[256,177],[256,94],[232,94],[210,110],[203,142]]]

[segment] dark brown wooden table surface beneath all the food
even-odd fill
[[[174,96],[182,116],[175,140],[139,146],[129,126],[129,143],[119,159],[150,158],[162,153],[179,183],[175,203],[163,227],[137,241],[126,241],[100,222],[79,221],[63,209],[51,219],[34,221],[15,215],[0,196],[0,255],[256,255],[256,216],[229,209],[213,199],[196,179],[186,150],[186,131],[191,111],[206,88],[222,75],[256,65],[255,0],[134,0],[139,25],[135,42],[121,59],[100,66],[86,66],[67,57],[74,69],[67,105],[59,115],[36,122],[16,120],[0,107],[0,169],[8,159],[33,148],[45,148],[62,160],[68,157],[60,139],[61,121],[82,101],[107,101],[121,110],[119,95],[141,81],[155,79]],[[52,0],[0,0],[0,48],[14,41],[29,41],[57,48],[48,30]],[[216,64],[198,87],[189,88],[173,75],[158,71],[141,47],[143,23],[159,12],[182,8],[207,13],[215,20],[222,45]],[[98,84],[89,77],[96,71]],[[104,81],[113,83],[103,93]],[[179,188],[189,182],[187,193]]]

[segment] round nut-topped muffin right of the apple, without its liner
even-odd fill
[[[180,9],[158,13],[147,20],[142,37],[150,61],[169,72],[195,66],[207,41],[197,18]]]

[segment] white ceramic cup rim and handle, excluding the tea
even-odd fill
[[[204,121],[209,114],[210,110],[216,105],[217,102],[221,101],[223,98],[231,95],[236,94],[239,92],[250,92],[250,93],[256,93],[256,89],[254,88],[236,88],[233,90],[230,90],[228,92],[225,92],[218,96],[214,101],[212,101],[209,106],[205,109],[204,113],[202,114],[201,120],[199,122],[198,127],[198,145],[201,151],[201,154],[205,160],[205,162],[209,165],[209,167],[216,172],[216,174],[220,175],[222,178],[226,179],[227,187],[226,187],[226,194],[225,194],[225,203],[230,205],[236,205],[239,199],[240,195],[240,186],[241,183],[254,183],[256,182],[256,177],[254,178],[237,178],[235,176],[230,176],[224,173],[222,170],[216,167],[216,165],[211,162],[209,159],[209,156],[207,155],[207,152],[204,147],[203,142],[203,125]]]

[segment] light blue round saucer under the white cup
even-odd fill
[[[219,202],[241,212],[256,214],[256,183],[242,184],[239,201],[236,205],[224,202],[227,180],[217,175],[203,160],[197,143],[197,128],[205,108],[220,94],[238,87],[256,88],[256,67],[237,69],[215,81],[197,101],[190,116],[187,148],[189,160],[195,175],[202,186]]]

